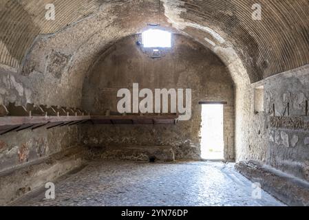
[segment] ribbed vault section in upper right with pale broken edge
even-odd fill
[[[186,31],[207,27],[233,47],[251,82],[309,63],[308,0],[164,0],[166,15]],[[252,19],[255,3],[262,21]]]

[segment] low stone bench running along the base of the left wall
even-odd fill
[[[83,148],[69,148],[21,168],[0,173],[0,206],[31,193],[85,162]]]

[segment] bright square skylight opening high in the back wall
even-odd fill
[[[142,44],[144,47],[171,47],[171,33],[150,29],[142,32]]]

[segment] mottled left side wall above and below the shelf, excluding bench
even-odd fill
[[[30,76],[22,76],[14,69],[0,66],[0,104],[8,106],[14,102],[24,106],[34,103],[76,107],[79,98],[72,96],[74,89],[65,83],[67,76],[60,67],[67,58],[63,54],[54,53],[48,59],[48,73],[32,72]],[[43,127],[34,131],[27,129],[0,135],[0,172],[35,162],[65,148],[80,146],[79,137],[77,126],[50,130]]]

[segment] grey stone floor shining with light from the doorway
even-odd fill
[[[252,183],[234,164],[182,162],[92,162],[55,183],[56,199],[45,191],[18,206],[284,206],[262,191],[252,197]]]

